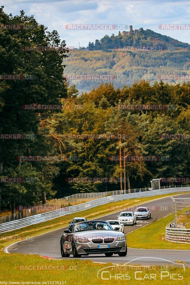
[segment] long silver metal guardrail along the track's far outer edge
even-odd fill
[[[42,214],[34,215],[31,217],[23,218],[20,220],[0,224],[0,234],[13,231],[13,230],[17,230],[17,229],[21,229],[23,227],[34,225],[37,223],[42,223],[44,221],[55,219],[57,217],[62,217],[64,215],[73,214],[73,213],[77,213],[77,212],[84,211],[87,209],[91,209],[93,207],[104,205],[110,202],[117,202],[117,201],[122,201],[126,199],[133,199],[133,198],[151,197],[151,196],[163,195],[163,194],[171,194],[175,192],[190,192],[190,188],[189,187],[184,187],[182,189],[181,188],[168,188],[164,190],[159,189],[159,190],[152,190],[152,191],[147,191],[147,192],[138,192],[138,193],[108,196],[108,197],[96,199],[93,201],[89,201],[86,203],[82,203],[79,205],[64,207],[62,209],[58,209],[55,211],[50,211],[47,213],[42,213]]]

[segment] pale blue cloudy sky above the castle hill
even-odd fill
[[[67,46],[87,46],[105,34],[118,34],[118,30],[68,30],[66,25],[115,24],[132,25],[133,29],[151,29],[154,32],[190,44],[190,30],[161,30],[162,24],[190,25],[189,1],[124,1],[124,0],[0,0],[7,14],[19,15],[20,10],[38,23],[57,30]],[[126,31],[128,29],[124,29]],[[121,29],[122,31],[122,29]]]

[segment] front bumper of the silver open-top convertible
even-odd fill
[[[103,243],[104,244],[104,243]],[[126,241],[117,241],[109,244],[109,248],[99,249],[97,244],[93,243],[75,243],[78,254],[103,254],[103,253],[119,253],[126,250]]]

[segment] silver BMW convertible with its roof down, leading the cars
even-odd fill
[[[72,225],[61,237],[61,256],[81,257],[89,254],[127,255],[127,243],[124,233],[114,229],[105,221],[85,221]]]

